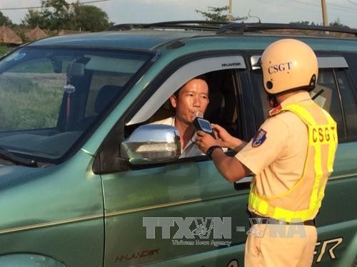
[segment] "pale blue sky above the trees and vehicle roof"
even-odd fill
[[[74,0],[67,0],[74,2]],[[90,1],[90,0],[81,0]],[[357,28],[357,0],[326,0],[328,21]],[[13,22],[20,23],[26,10],[1,10],[24,6],[40,6],[41,0],[1,0],[0,11]],[[150,23],[158,21],[203,19],[195,9],[226,6],[228,0],[109,0],[94,3],[106,11],[114,23]],[[321,0],[233,0],[233,16],[258,16],[262,22],[288,23],[313,21],[322,23]],[[251,18],[246,22],[256,22]]]

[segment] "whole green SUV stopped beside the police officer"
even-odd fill
[[[45,38],[0,61],[0,266],[243,266],[249,182],[179,157],[168,99],[205,74],[205,118],[250,140],[268,115],[258,58],[318,56],[338,123],[314,266],[357,265],[357,30],[174,21]],[[234,152],[227,151],[228,155]]]

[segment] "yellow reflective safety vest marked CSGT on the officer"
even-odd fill
[[[333,172],[338,141],[336,122],[328,112],[310,101],[288,105],[282,108],[283,111],[295,113],[308,127],[308,152],[302,177],[287,192],[269,197],[256,193],[254,178],[248,205],[251,211],[273,219],[306,221],[318,213],[328,176]],[[298,202],[297,207],[295,201]]]

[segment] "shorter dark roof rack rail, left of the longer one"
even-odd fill
[[[134,28],[179,28],[184,30],[217,31],[226,21],[164,21],[156,23],[126,23],[109,28],[109,31],[128,31]]]

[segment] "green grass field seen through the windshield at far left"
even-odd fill
[[[56,127],[61,88],[53,80],[21,77],[21,73],[1,78],[0,131]]]

